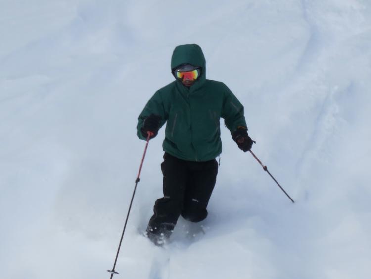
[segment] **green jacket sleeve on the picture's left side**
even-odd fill
[[[157,91],[152,96],[152,98],[149,99],[143,111],[140,113],[138,117],[137,136],[139,137],[139,139],[146,140],[146,138],[143,137],[143,135],[141,134],[140,129],[143,126],[144,119],[151,114],[155,114],[161,117],[160,127],[162,127],[165,124],[168,118],[167,114],[165,113],[164,103],[160,91]]]

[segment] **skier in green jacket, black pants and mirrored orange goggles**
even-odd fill
[[[156,91],[137,125],[138,137],[146,140],[166,123],[161,163],[164,196],[156,200],[146,230],[156,245],[170,237],[179,216],[191,222],[206,218],[218,173],[216,157],[222,152],[220,118],[241,150],[246,152],[253,144],[242,104],[224,83],[206,79],[200,46],[177,46],[171,72],[176,80]]]

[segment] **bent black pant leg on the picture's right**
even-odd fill
[[[182,217],[191,222],[199,222],[207,216],[207,204],[213,192],[218,174],[218,162],[190,162],[189,177],[184,195]]]

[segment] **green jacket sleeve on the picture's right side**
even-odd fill
[[[225,84],[223,85],[225,86],[225,91],[222,118],[224,118],[226,127],[230,130],[231,134],[233,134],[238,127],[244,127],[247,129],[242,104],[234,96],[232,91]]]

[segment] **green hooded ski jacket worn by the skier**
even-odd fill
[[[220,118],[233,133],[246,127],[243,106],[222,82],[206,79],[206,61],[197,44],[174,49],[171,69],[183,63],[200,66],[201,75],[191,87],[180,80],[159,89],[138,117],[137,135],[143,120],[150,114],[161,116],[160,127],[166,122],[165,152],[187,161],[208,161],[222,153]]]

